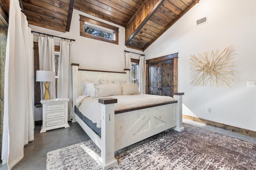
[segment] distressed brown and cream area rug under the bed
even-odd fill
[[[255,170],[256,145],[184,124],[115,152],[110,170]],[[85,141],[47,153],[47,170],[100,170],[100,149]]]

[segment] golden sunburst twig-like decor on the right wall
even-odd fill
[[[192,86],[232,86],[234,62],[232,46],[226,47],[220,54],[217,49],[211,53],[191,55],[190,84]]]

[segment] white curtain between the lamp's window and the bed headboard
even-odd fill
[[[71,81],[71,41],[61,40],[60,41],[60,64],[59,64],[59,78],[58,78],[58,98],[69,98],[68,119],[72,117],[72,81]]]

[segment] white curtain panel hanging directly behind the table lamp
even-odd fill
[[[38,37],[39,68],[40,70],[55,72],[54,39],[52,37]],[[50,99],[56,98],[55,82],[49,82]],[[40,83],[41,99],[44,98],[44,82]]]

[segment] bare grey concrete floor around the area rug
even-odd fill
[[[183,119],[183,122],[256,144],[256,138],[253,137],[240,135],[185,119]],[[45,170],[47,152],[90,139],[78,123],[69,124],[69,128],[54,129],[46,131],[46,133],[40,133],[40,126],[37,126],[34,131],[34,141],[31,141],[24,147],[24,158],[14,166],[13,170]],[[8,170],[6,165],[0,165],[0,169]]]

